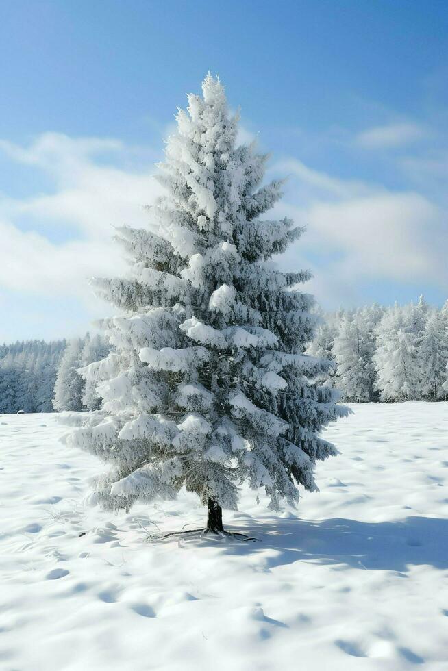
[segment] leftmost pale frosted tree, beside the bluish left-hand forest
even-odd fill
[[[73,338],[61,357],[53,398],[53,407],[58,412],[84,409],[82,405],[84,380],[77,372],[77,368],[82,364],[82,346],[81,338]]]

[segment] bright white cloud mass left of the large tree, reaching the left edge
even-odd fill
[[[127,148],[99,138],[47,133],[29,147],[0,142],[1,149],[14,162],[43,171],[53,192],[0,197],[0,285],[88,300],[92,275],[115,275],[124,266],[112,226],[148,224],[142,205],[160,192],[153,166],[139,172],[116,168],[112,160],[123,160]],[[55,242],[66,231],[71,239]]]

